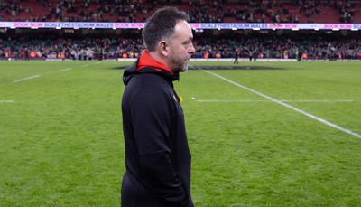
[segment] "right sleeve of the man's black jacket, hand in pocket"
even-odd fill
[[[172,101],[165,90],[143,89],[134,98],[131,115],[144,187],[180,205],[186,194],[171,159]]]

